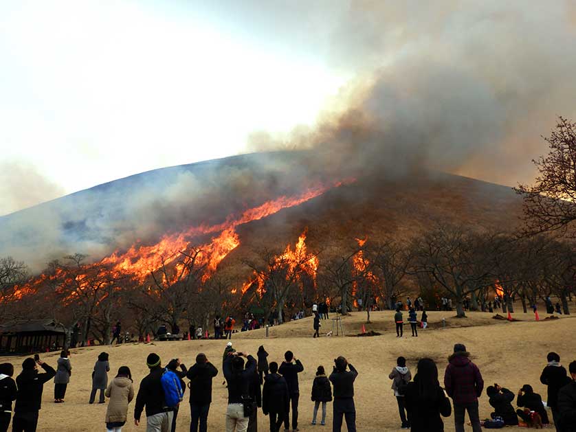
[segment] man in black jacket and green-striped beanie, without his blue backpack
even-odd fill
[[[150,373],[140,381],[140,389],[134,407],[134,424],[140,425],[140,416],[146,407],[146,431],[166,432],[172,427],[173,410],[166,406],[162,374],[164,369],[158,354],[152,353],[146,359]]]

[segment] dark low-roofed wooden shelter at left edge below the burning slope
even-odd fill
[[[54,319],[14,321],[0,326],[0,352],[27,354],[61,350],[66,328]]]

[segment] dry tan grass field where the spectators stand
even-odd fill
[[[533,314],[516,313],[522,321],[507,322],[491,319],[492,314],[470,312],[466,319],[456,319],[454,312],[429,312],[430,328],[421,330],[419,337],[410,337],[410,326],[403,339],[397,339],[393,331],[392,312],[373,312],[373,324],[366,325],[366,330],[382,333],[379,337],[321,337],[312,338],[311,318],[286,323],[283,326],[270,328],[269,338],[264,330],[254,330],[234,334],[232,342],[236,350],[256,354],[259,345],[264,345],[269,352],[269,361],[280,361],[286,350],[292,350],[304,365],[300,374],[300,431],[331,430],[331,406],[326,419],[327,425],[311,426],[313,402],[310,393],[316,367],[324,365],[331,370],[335,356],[343,355],[355,365],[359,376],[355,383],[355,404],[357,410],[357,430],[362,432],[396,431],[399,429],[399,418],[395,398],[390,389],[388,374],[395,365],[397,356],[408,359],[408,366],[414,374],[415,366],[423,356],[434,359],[439,365],[440,375],[447,363],[447,356],[452,352],[454,343],[465,343],[472,353],[473,361],[483,373],[486,385],[499,383],[515,393],[524,384],[533,385],[535,391],[546,397],[546,388],[540,384],[539,376],[546,365],[546,353],[554,350],[568,365],[576,359],[576,341],[573,329],[576,321],[571,317],[562,317],[554,321],[535,322]],[[442,328],[442,319],[447,327]],[[544,316],[542,316],[544,318]],[[366,321],[366,312],[353,312],[344,318],[346,334],[357,334],[362,323]],[[322,332],[330,330],[330,321],[322,321]],[[50,382],[45,385],[43,405],[38,422],[38,431],[102,431],[104,430],[104,413],[106,405],[88,405],[91,389],[91,370],[96,356],[102,350],[109,352],[111,373],[115,375],[118,367],[128,365],[133,373],[135,389],[146,374],[146,356],[157,352],[163,363],[178,357],[186,365],[192,365],[198,352],[205,352],[208,359],[219,369],[214,378],[213,402],[210,407],[208,431],[224,431],[224,416],[227,392],[222,385],[221,374],[222,352],[225,341],[179,341],[128,343],[117,346],[77,348],[72,350],[71,363],[73,374],[68,386],[66,402],[54,404],[53,387]],[[21,371],[23,357],[3,357],[1,362],[11,361],[16,365],[16,374]],[[43,360],[56,365],[57,354],[45,354]],[[190,409],[188,394],[181,406],[177,431],[188,431]],[[133,416],[134,403],[129,407],[129,419]],[[480,415],[489,416],[490,408],[487,397],[480,398]],[[128,422],[124,431],[144,431],[145,424],[135,427]],[[258,413],[258,429],[267,431],[268,418]],[[345,430],[345,428],[344,428]],[[445,419],[445,430],[454,431],[452,417]]]

